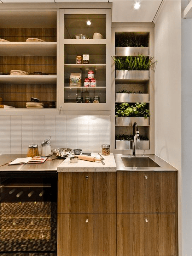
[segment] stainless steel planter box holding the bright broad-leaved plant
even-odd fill
[[[149,117],[115,117],[116,126],[133,126],[134,122],[136,122],[138,126],[148,126]]]

